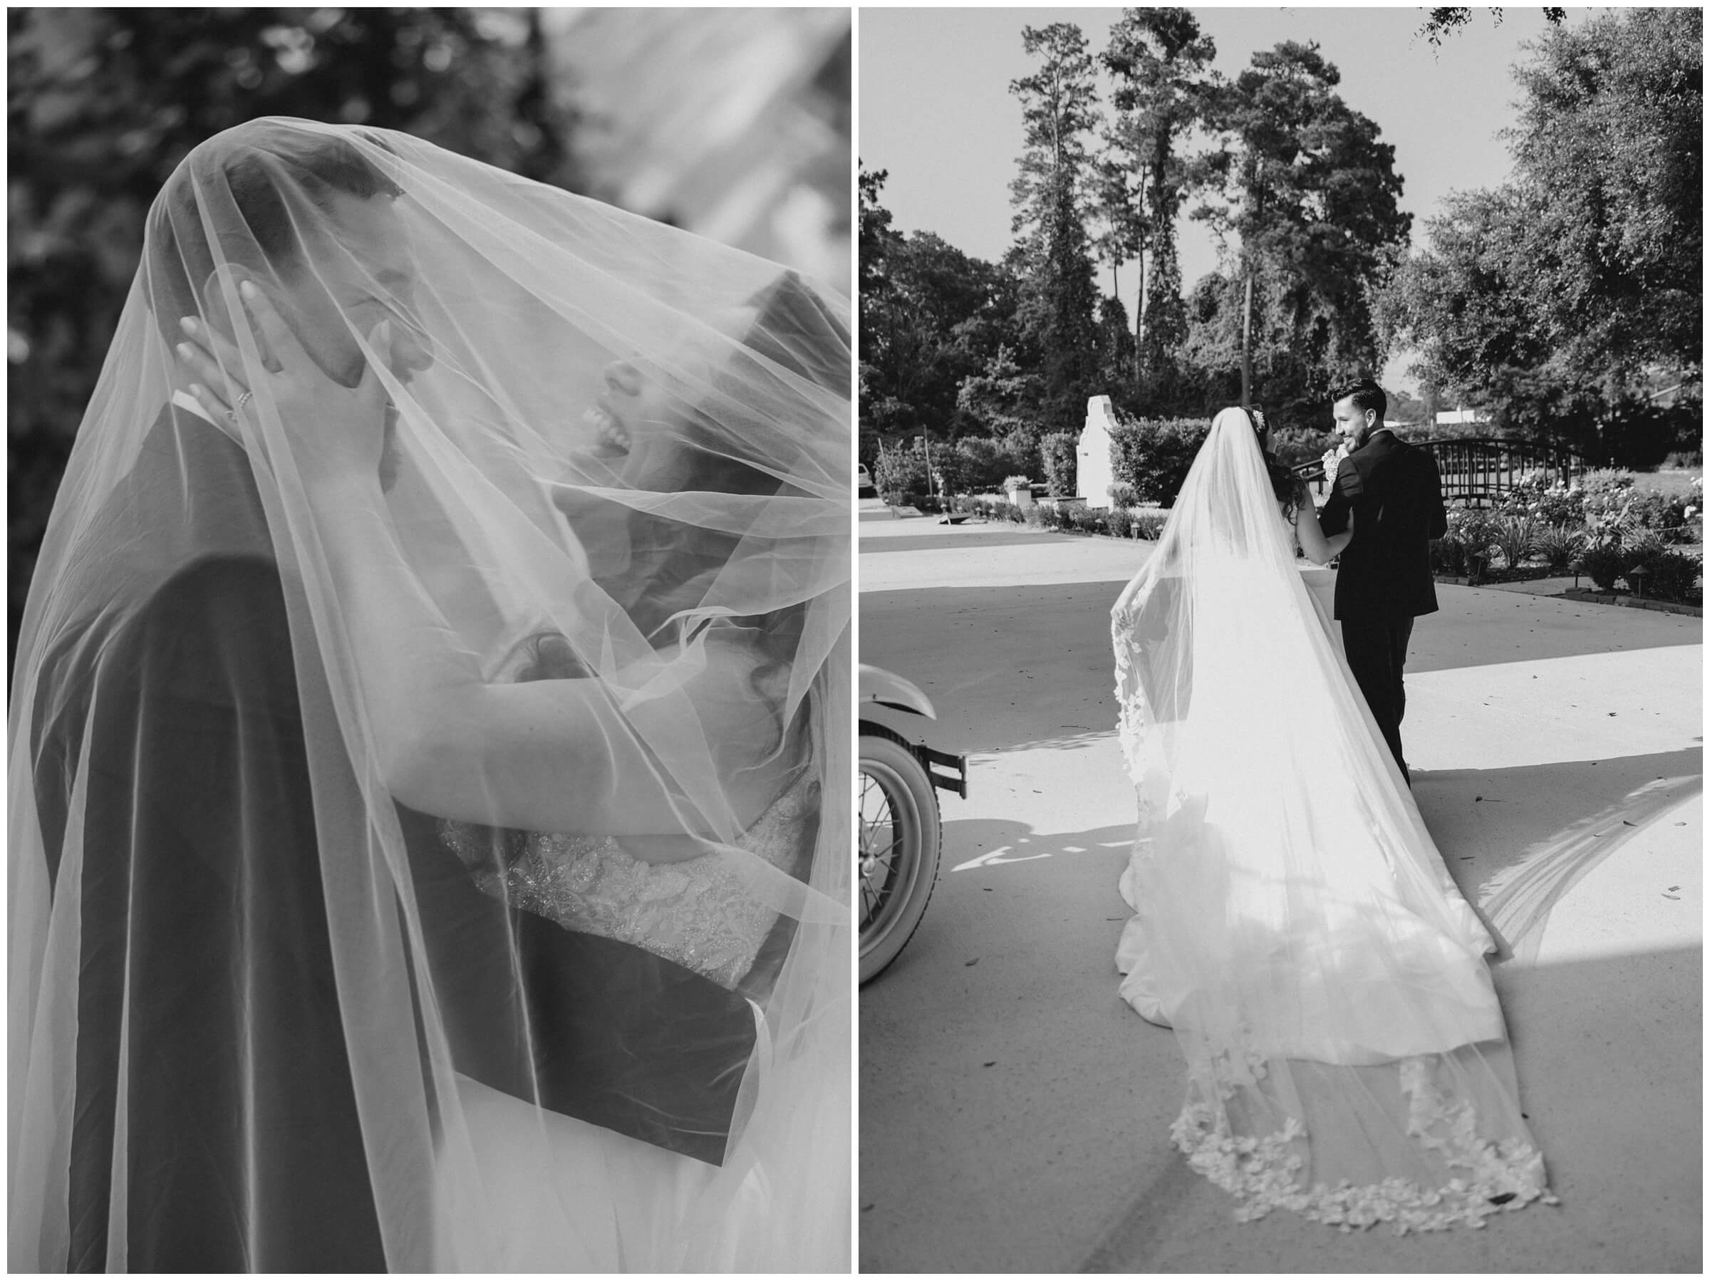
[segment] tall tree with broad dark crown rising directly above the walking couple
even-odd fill
[[[1341,72],[1317,44],[1282,41],[1211,101],[1219,149],[1195,166],[1221,202],[1211,221],[1240,280],[1241,400],[1253,388],[1253,356],[1294,363],[1332,378],[1380,363],[1370,294],[1406,243],[1411,215],[1395,149],[1336,92]],[[1262,322],[1255,334],[1255,316]]]

